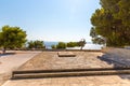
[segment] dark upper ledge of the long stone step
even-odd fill
[[[89,68],[89,69],[52,69],[52,70],[16,70],[12,74],[22,73],[51,73],[51,72],[81,72],[81,71],[130,70],[130,67]]]

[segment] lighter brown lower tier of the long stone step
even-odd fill
[[[68,77],[68,76],[92,76],[92,75],[118,75],[130,74],[130,69],[123,70],[92,70],[92,71],[65,71],[65,72],[30,72],[30,73],[14,73],[12,78],[41,78],[41,77]]]

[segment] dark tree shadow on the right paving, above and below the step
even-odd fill
[[[114,56],[114,55],[109,55],[109,54],[104,54],[103,56],[98,56],[98,58],[102,61],[107,62],[108,64],[113,64],[114,68],[130,68],[130,58],[126,59],[126,58],[120,58],[118,56]],[[130,74],[120,74],[118,75],[123,80],[130,80]]]

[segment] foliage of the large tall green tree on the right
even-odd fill
[[[94,43],[107,46],[130,45],[130,0],[101,0],[91,17],[90,35]]]

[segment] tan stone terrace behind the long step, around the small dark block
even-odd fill
[[[74,52],[76,57],[58,57],[57,52],[43,52],[32,58],[18,70],[51,70],[51,69],[86,69],[86,68],[105,68],[113,67],[102,61],[98,56],[100,52]]]

